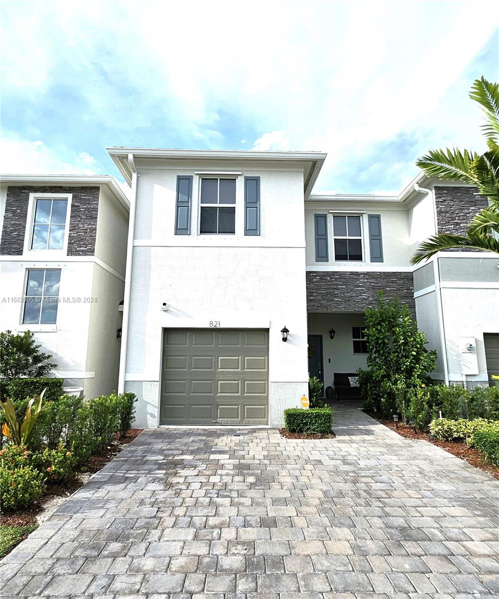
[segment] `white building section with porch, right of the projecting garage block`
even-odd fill
[[[437,350],[434,380],[492,382],[499,373],[499,256],[450,251],[416,267],[409,262],[436,231],[464,233],[486,198],[421,175],[398,195],[312,194],[305,205],[311,374],[328,386],[334,373],[365,367],[362,314],[382,289],[409,305],[428,349]]]

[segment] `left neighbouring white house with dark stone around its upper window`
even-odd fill
[[[66,386],[117,389],[129,202],[113,177],[4,175],[0,330],[32,331]]]

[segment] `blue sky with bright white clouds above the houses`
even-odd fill
[[[108,146],[326,152],[314,192],[396,192],[485,149],[489,0],[3,0],[0,171],[112,174]]]

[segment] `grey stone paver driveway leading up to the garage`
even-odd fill
[[[499,594],[499,482],[352,407],[334,428],[145,431],[4,559],[2,592]]]

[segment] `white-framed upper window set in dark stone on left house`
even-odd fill
[[[34,195],[29,250],[63,250],[67,243],[70,196]]]

